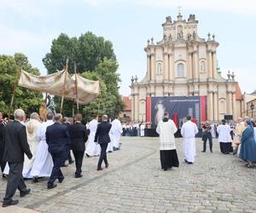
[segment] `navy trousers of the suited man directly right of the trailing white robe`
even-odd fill
[[[59,152],[59,153],[50,153],[54,166],[51,170],[51,174],[49,177],[49,181],[48,181],[48,186],[52,186],[56,180],[56,178],[58,178],[59,180],[63,179],[64,176],[61,172],[61,164],[63,162],[63,152]],[[65,152],[64,152],[65,154]]]

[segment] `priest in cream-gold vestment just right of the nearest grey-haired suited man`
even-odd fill
[[[40,118],[37,112],[32,112],[30,115],[30,121],[26,123],[26,137],[27,143],[30,147],[31,153],[33,157],[31,159],[27,158],[26,155],[24,156],[24,164],[23,164],[23,172],[22,175],[25,178],[31,178],[31,170],[32,165],[35,161],[37,150],[38,150],[38,140],[36,138],[36,134],[38,131],[38,127],[41,125],[39,122]]]

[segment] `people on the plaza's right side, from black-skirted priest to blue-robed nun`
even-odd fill
[[[253,168],[256,164],[256,125],[255,121],[249,117],[238,118],[236,124],[227,124],[222,120],[221,124],[210,124],[205,121],[201,124],[203,142],[202,153],[207,152],[207,141],[209,141],[209,150],[212,153],[212,138],[218,138],[220,153],[233,153],[245,166]],[[160,163],[161,169],[172,169],[172,166],[178,167],[179,161],[175,147],[174,134],[177,127],[169,119],[167,112],[164,118],[157,126],[156,132],[160,135]],[[183,136],[183,154],[186,164],[195,162],[195,136],[199,132],[197,125],[187,116],[187,121],[181,128]]]

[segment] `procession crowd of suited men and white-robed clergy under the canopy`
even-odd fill
[[[0,163],[3,177],[8,176],[3,207],[18,204],[18,200],[12,199],[17,188],[20,197],[30,193],[24,178],[38,182],[40,177],[49,177],[47,188],[52,189],[57,186],[55,180],[64,181],[61,166],[75,162],[74,177],[81,178],[84,153],[87,157],[100,155],[96,170],[102,170],[103,161],[106,168],[109,166],[107,153],[120,148],[122,126],[118,118],[110,124],[108,116],[103,115],[99,124],[96,116],[88,129],[82,124],[80,113],[73,121],[62,118],[60,113],[48,112],[42,122],[37,112],[26,119],[25,112],[17,109],[14,118],[6,122],[0,112]]]

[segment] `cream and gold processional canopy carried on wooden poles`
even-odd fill
[[[87,104],[99,95],[99,81],[91,81],[74,74],[67,73],[64,97],[76,100],[76,76],[79,104]],[[55,72],[47,76],[35,76],[31,73],[21,71],[19,86],[27,89],[47,92],[51,95],[62,96],[62,89],[65,82],[65,71]]]

